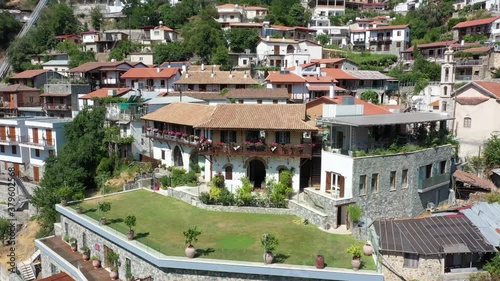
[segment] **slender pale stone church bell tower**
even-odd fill
[[[444,52],[444,62],[441,64],[441,81],[439,83],[441,95],[439,97],[439,111],[447,112],[450,116],[453,112],[451,93],[453,92],[453,86],[455,85],[455,63],[453,50],[451,47],[448,47]]]

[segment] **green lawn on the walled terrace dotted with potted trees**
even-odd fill
[[[271,233],[280,243],[274,251],[277,262],[314,265],[316,254],[322,254],[329,267],[352,268],[346,249],[353,243],[363,245],[351,235],[330,234],[314,225],[300,224],[296,216],[206,211],[145,190],[86,201],[82,204],[84,214],[97,219],[98,200],[111,202],[111,211],[106,214],[112,221],[108,226],[125,234],[128,228],[122,220],[134,214],[137,240],[166,255],[184,256],[182,232],[194,226],[202,231],[194,245],[204,250],[204,258],[260,262],[260,238]],[[362,257],[362,261],[365,269],[375,268],[371,257]]]

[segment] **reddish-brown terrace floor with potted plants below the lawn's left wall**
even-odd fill
[[[94,268],[92,261],[84,261],[80,252],[71,251],[68,243],[64,242],[60,236],[54,236],[40,240],[52,251],[56,252],[61,258],[65,259],[76,268],[80,268],[82,274],[89,281],[110,280],[109,272],[104,268]],[[119,280],[119,279],[118,279]]]

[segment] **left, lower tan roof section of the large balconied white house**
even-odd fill
[[[144,115],[142,119],[194,126],[208,120],[214,110],[213,105],[174,102]]]

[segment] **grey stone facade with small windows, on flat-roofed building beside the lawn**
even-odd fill
[[[450,182],[443,181],[419,192],[419,169],[446,161],[445,174],[450,173],[451,145],[429,148],[410,153],[387,156],[354,158],[353,197],[361,205],[363,214],[373,220],[383,218],[413,217],[426,210],[427,203],[436,206],[448,199]],[[407,170],[407,182],[402,183],[402,172]],[[390,173],[396,172],[396,184],[391,187]],[[434,172],[433,172],[434,173]],[[372,177],[378,174],[378,191],[371,190]],[[366,175],[366,194],[360,194],[360,176]]]

